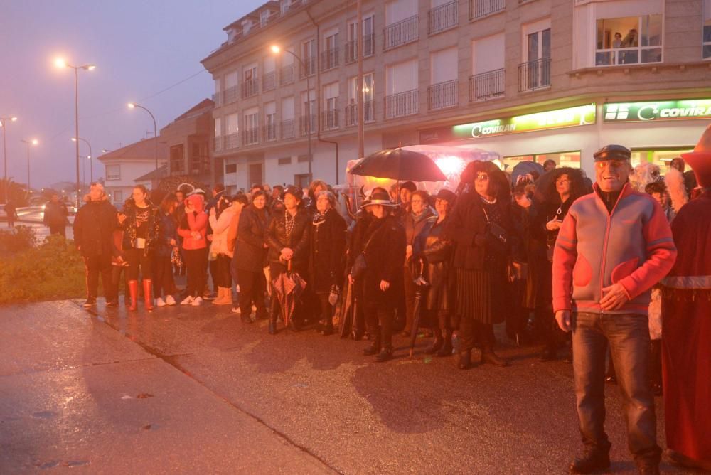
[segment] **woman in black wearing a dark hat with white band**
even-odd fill
[[[362,250],[355,256],[355,265],[350,278],[363,285],[363,314],[373,341],[363,353],[378,355],[377,361],[392,358],[392,324],[395,306],[401,297],[398,293],[402,281],[402,267],[405,264],[405,230],[400,220],[392,215],[395,203],[387,192],[373,192],[362,208],[370,208],[373,218],[368,228],[361,234],[357,248]],[[365,260],[365,269],[358,265]],[[358,272],[358,269],[363,269]]]

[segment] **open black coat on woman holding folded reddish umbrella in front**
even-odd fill
[[[299,208],[294,216],[294,229],[292,229],[291,235],[287,237],[287,224],[284,220],[285,213],[287,211],[274,213],[272,220],[269,222],[269,227],[265,234],[269,245],[267,260],[284,264],[284,261],[279,260],[279,256],[282,255],[284,247],[289,247],[294,251],[292,269],[296,272],[304,272],[309,262],[309,227],[311,226],[311,219],[306,210]]]

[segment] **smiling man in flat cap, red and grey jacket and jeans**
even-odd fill
[[[604,431],[606,348],[617,370],[627,439],[641,474],[657,474],[654,399],[647,380],[650,289],[676,258],[664,212],[627,181],[631,151],[621,145],[595,152],[593,193],[570,206],[553,252],[553,309],[572,331],[573,372],[584,452],[570,473],[609,467]]]

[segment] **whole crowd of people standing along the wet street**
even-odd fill
[[[154,304],[201,306],[212,300],[231,304],[245,324],[268,319],[272,334],[281,319],[294,331],[313,326],[327,336],[347,295],[358,302],[351,334],[368,339],[365,355],[390,360],[394,333],[424,328],[432,336],[426,353],[451,356],[456,332],[456,365],[462,370],[473,365],[475,348],[479,363],[507,365],[495,351],[494,333],[494,325],[506,323],[516,344],[542,343],[540,361],[555,360],[572,347],[565,358],[573,363],[584,443],[572,473],[609,466],[606,361],[619,381],[638,469],[658,473],[652,388],[661,390],[662,352],[653,343],[661,337],[661,322],[655,331],[654,321],[661,320],[663,299],[676,299],[680,307],[674,292],[682,300],[688,292],[684,279],[664,284],[677,254],[683,255],[670,223],[685,216],[676,191],[667,188],[672,181],[640,183],[630,158],[624,146],[597,151],[594,183],[579,169],[555,168],[555,162],[545,164],[541,176],[530,172],[512,183],[493,162],[473,161],[456,191],[443,188],[432,196],[415,183],[396,183],[369,190],[358,210],[347,211],[338,193],[318,180],[308,190],[255,185],[236,196],[227,196],[219,184],[210,196],[181,189],[167,193],[158,206],[144,186],[136,186],[120,211],[94,183],[74,222],[87,269],[85,306],[96,304],[100,276],[107,305],[118,305],[124,271],[129,311],[139,308],[140,294],[146,311]],[[670,175],[683,188],[678,168]],[[697,203],[709,198],[703,186],[709,183],[695,188]],[[182,272],[187,284],[180,292],[173,277]],[[287,304],[279,298],[279,285],[294,275],[305,288]],[[674,351],[666,351],[666,362]],[[685,358],[691,357],[687,351]],[[710,383],[699,388],[695,382],[711,402]],[[671,391],[686,397],[678,388]],[[687,413],[676,413],[685,434],[672,441],[680,454],[710,460],[708,442],[700,448],[698,439],[711,425],[699,429]],[[711,422],[707,412],[700,420]]]

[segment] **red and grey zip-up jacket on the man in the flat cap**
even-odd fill
[[[608,212],[597,183],[578,198],[560,227],[553,252],[553,309],[647,315],[651,288],[670,271],[676,247],[659,203],[626,183]],[[603,311],[602,289],[619,283],[629,301]]]

